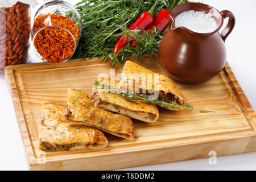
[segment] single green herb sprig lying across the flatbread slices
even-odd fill
[[[109,86],[109,85],[105,84],[104,82],[99,82],[97,80],[94,80],[93,84],[95,86],[98,86],[101,89],[108,90],[110,93],[122,94],[123,97],[130,98],[131,100],[139,100],[139,101],[142,101],[143,103],[147,103],[147,104],[156,104],[161,107],[171,107],[172,109],[183,108],[183,109],[188,110],[188,112],[193,111],[193,110],[200,111],[200,113],[214,112],[214,111],[209,111],[209,110],[195,109],[193,106],[189,105],[187,102],[185,102],[185,104],[181,106],[181,105],[177,104],[177,102],[175,100],[171,102],[164,98],[161,98],[160,100],[159,99],[151,99],[150,97],[148,97],[145,94],[141,94],[141,93],[137,94],[134,92],[125,92],[119,88],[113,88],[112,86]]]

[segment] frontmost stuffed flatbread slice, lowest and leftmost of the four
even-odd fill
[[[108,140],[102,131],[86,125],[69,125],[63,120],[66,107],[54,103],[42,105],[39,147],[44,151],[80,148],[104,148]]]

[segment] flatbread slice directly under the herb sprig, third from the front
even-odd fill
[[[97,78],[96,80],[110,85],[110,79],[105,81],[104,78]],[[114,87],[116,88],[118,85],[119,81],[115,81]],[[140,121],[155,122],[159,117],[156,105],[145,104],[138,100],[130,100],[118,93],[108,93],[96,85],[93,85],[93,98],[96,107],[124,114]]]

